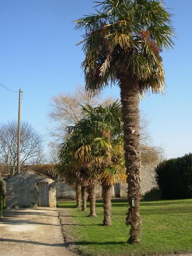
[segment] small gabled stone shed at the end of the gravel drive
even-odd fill
[[[38,172],[25,170],[6,182],[6,207],[56,207],[55,181]]]

